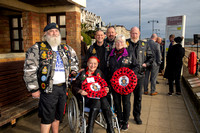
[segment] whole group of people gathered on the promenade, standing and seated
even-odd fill
[[[48,24],[44,28],[44,40],[37,42],[27,51],[24,80],[28,90],[32,93],[32,97],[40,99],[39,117],[41,117],[42,133],[48,133],[50,128],[54,133],[58,132],[66,102],[69,74],[77,73],[79,73],[79,76],[72,83],[74,94],[77,95],[86,97],[88,94],[81,89],[81,85],[87,77],[98,76],[107,82],[108,86],[105,87],[105,90],[106,93],[111,92],[113,94],[119,126],[123,131],[128,130],[131,93],[121,95],[115,92],[110,83],[113,73],[122,67],[128,67],[137,75],[137,85],[133,91],[133,116],[136,124],[142,124],[140,118],[142,89],[144,85],[144,94],[148,94],[149,73],[151,73],[152,83],[150,95],[157,94],[155,77],[157,77],[161,64],[161,54],[160,47],[155,42],[157,40],[159,42],[160,38],[153,34],[149,42],[142,41],[139,39],[140,30],[138,27],[131,28],[129,39],[125,39],[124,35],[117,35],[114,27],[108,27],[106,36],[105,39],[103,31],[96,31],[96,42],[87,49],[84,54],[85,57],[82,57],[82,71],[78,69],[79,61],[76,52],[69,45],[61,44],[61,36],[56,23]],[[179,47],[180,45],[177,45],[177,49]],[[170,49],[168,51],[170,61],[170,56],[175,50]],[[179,53],[176,53],[176,55],[179,57]],[[167,62],[167,66],[171,71],[170,61]],[[179,69],[177,68],[177,70]],[[171,78],[169,83],[173,80]],[[175,78],[175,81],[178,82],[178,78]],[[170,93],[173,93],[172,87]],[[100,109],[107,122],[107,132],[114,133],[112,112],[109,99],[106,96],[101,98],[86,97],[86,106],[90,108],[87,133],[93,132],[94,120]]]

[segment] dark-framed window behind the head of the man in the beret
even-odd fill
[[[66,17],[65,13],[48,14],[47,23],[57,23],[60,29],[62,43],[66,43]]]

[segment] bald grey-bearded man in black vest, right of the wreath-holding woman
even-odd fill
[[[141,101],[142,101],[142,87],[144,84],[144,71],[146,67],[150,66],[153,62],[152,52],[148,44],[139,40],[140,30],[138,27],[131,28],[131,38],[126,40],[128,45],[128,52],[135,54],[136,59],[140,65],[140,70],[137,74],[137,86],[134,93],[133,116],[137,124],[142,124],[140,119],[141,115]]]

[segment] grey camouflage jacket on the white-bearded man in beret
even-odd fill
[[[41,44],[45,44],[42,50],[39,48]],[[65,45],[67,46],[67,45]],[[78,58],[76,56],[76,52],[70,47],[67,46],[70,56],[67,56],[65,53],[65,49],[61,45],[58,46],[58,51],[60,57],[63,61],[64,69],[65,69],[65,77],[66,77],[66,85],[68,85],[68,77],[71,71],[78,72]],[[43,58],[42,53],[46,51],[47,57],[46,59],[41,61]],[[51,53],[51,54],[48,54]],[[49,57],[50,56],[50,57]],[[68,59],[70,57],[70,59]],[[45,83],[44,92],[51,93],[53,89],[53,76],[56,65],[56,52],[54,52],[50,45],[47,42],[38,42],[34,44],[31,48],[28,49],[26,53],[26,59],[24,63],[24,81],[26,83],[27,89],[30,92],[36,92],[37,90],[42,90],[40,80],[40,69],[42,66],[45,66],[47,69],[47,82]],[[50,67],[49,67],[50,66]]]

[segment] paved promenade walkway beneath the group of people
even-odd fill
[[[129,128],[126,133],[197,133],[193,117],[187,109],[185,97],[173,94],[168,96],[167,80],[158,76],[159,84],[156,86],[158,95],[144,95],[142,97],[141,119],[142,125],[137,125],[133,120],[132,108],[129,119]],[[184,89],[184,86],[182,86]],[[187,100],[186,100],[187,101]],[[133,95],[131,96],[131,105]],[[39,133],[40,119],[37,117],[37,110],[21,117],[15,126],[9,124],[0,128],[1,133]],[[70,133],[67,118],[60,126],[60,133]],[[106,130],[95,125],[94,133],[106,133]]]

